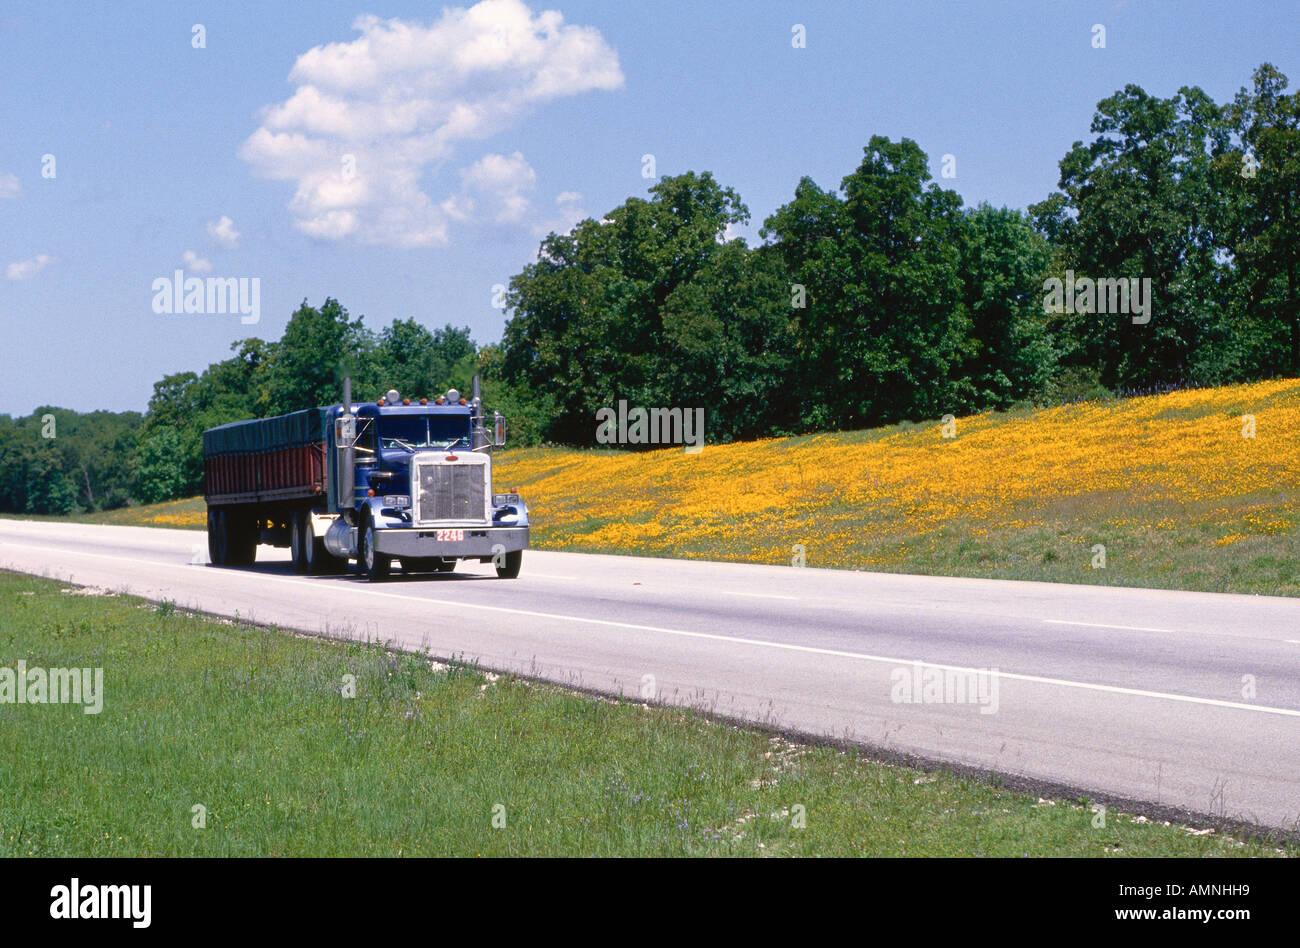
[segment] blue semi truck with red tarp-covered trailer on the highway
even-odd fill
[[[491,453],[504,419],[484,425],[473,395],[437,398],[389,390],[203,433],[208,557],[248,566],[259,544],[287,546],[299,572],[344,570],[355,559],[373,581],[403,572],[450,572],[474,559],[502,579],[519,576],[528,507],[494,492]]]

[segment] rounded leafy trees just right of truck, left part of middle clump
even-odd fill
[[[790,360],[788,290],[771,261],[727,239],[740,196],[688,172],[569,234],[511,281],[502,373],[543,393],[541,434],[590,443],[598,408],[705,408],[715,440],[763,433]]]

